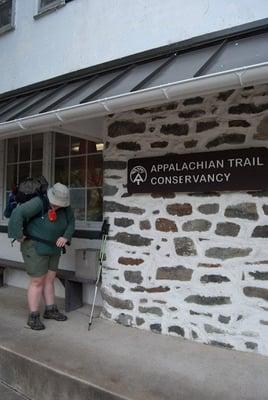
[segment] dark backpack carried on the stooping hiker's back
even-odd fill
[[[10,218],[12,211],[18,204],[26,203],[32,198],[39,196],[43,201],[43,213],[48,208],[47,200],[48,182],[44,176],[38,178],[26,178],[24,181],[15,186],[9,193],[4,216]]]

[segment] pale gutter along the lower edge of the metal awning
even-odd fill
[[[268,62],[185,79],[133,93],[78,104],[43,114],[0,123],[1,139],[43,129],[62,127],[70,122],[103,117],[135,108],[148,107],[197,95],[268,83]]]

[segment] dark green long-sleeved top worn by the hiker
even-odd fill
[[[8,237],[19,240],[23,235],[35,236],[56,243],[60,236],[71,241],[75,230],[74,213],[71,207],[56,211],[56,221],[48,219],[48,213],[43,211],[43,201],[40,197],[18,205],[11,214],[8,223]],[[56,244],[35,242],[39,255],[60,254],[61,249]]]

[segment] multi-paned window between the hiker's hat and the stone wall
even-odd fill
[[[70,188],[78,221],[102,221],[102,144],[54,135],[54,182]]]

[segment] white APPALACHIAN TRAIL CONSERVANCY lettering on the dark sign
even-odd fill
[[[153,164],[151,185],[229,182],[231,169],[263,166],[259,156]],[[155,176],[157,174],[157,176]]]

